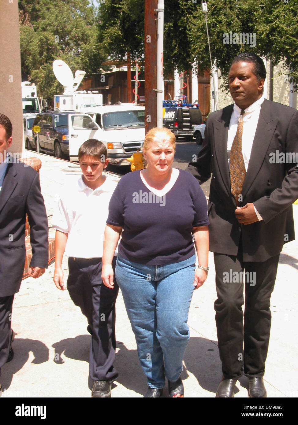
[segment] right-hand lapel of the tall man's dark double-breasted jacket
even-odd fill
[[[248,168],[242,188],[243,198],[250,189],[250,186],[253,184],[253,181],[255,180],[255,177],[257,176],[263,164],[266,152],[278,122],[278,119],[273,119],[270,113],[269,105],[270,104],[266,99],[261,105],[258,125],[255,130],[255,138],[253,139],[253,146],[250,154],[250,161],[248,163]]]

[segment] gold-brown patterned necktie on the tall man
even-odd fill
[[[238,118],[238,127],[236,135],[230,150],[231,193],[235,198],[237,206],[239,206],[238,195],[241,195],[243,182],[246,174],[244,159],[242,155],[243,114],[244,110],[242,109],[241,114]]]

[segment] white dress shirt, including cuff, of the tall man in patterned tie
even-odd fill
[[[261,105],[264,102],[264,96],[261,96],[256,102],[244,109],[243,115],[243,133],[242,133],[242,155],[244,159],[245,171],[247,171],[248,163],[250,161],[250,154],[253,147],[253,139],[255,138],[255,130],[257,129],[258,119],[260,116]],[[229,131],[227,136],[227,156],[228,164],[230,169],[230,152],[233,144],[233,140],[236,136],[238,127],[238,118],[240,116],[241,109],[234,103],[233,113],[230,119]],[[255,206],[254,206],[255,208]],[[258,220],[262,220],[261,215],[255,208],[255,213]]]

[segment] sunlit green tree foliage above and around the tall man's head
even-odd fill
[[[272,59],[274,65],[284,60],[290,79],[298,83],[298,6],[289,0],[208,0],[207,23],[212,59],[224,77],[232,59],[240,52],[254,53]],[[190,16],[187,40],[190,60],[196,59],[202,71],[210,66],[205,17],[199,4]],[[255,34],[255,47],[247,44],[224,44],[223,34]]]

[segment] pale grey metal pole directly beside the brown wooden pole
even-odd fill
[[[164,54],[164,0],[157,4],[157,127],[162,127],[162,101],[164,100],[163,54]]]

